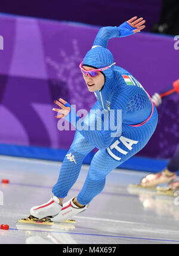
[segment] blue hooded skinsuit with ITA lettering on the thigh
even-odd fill
[[[126,23],[123,25],[129,26]],[[125,26],[101,28],[93,47],[84,57],[83,65],[93,68],[111,65],[114,60],[106,48],[107,42],[110,38],[125,36]],[[78,178],[85,156],[97,147],[99,150],[91,161],[84,187],[77,197],[82,205],[87,205],[103,190],[109,172],[147,144],[158,122],[158,114],[149,95],[128,71],[113,65],[102,73],[105,83],[100,91],[94,92],[97,102],[90,113],[83,121],[76,117],[80,126],[69,117],[71,123],[76,125],[75,138],[61,166],[57,184],[53,187],[55,196],[66,197]],[[66,106],[70,106],[69,103]],[[92,111],[96,111],[95,114]],[[90,129],[90,121],[96,123],[101,111],[104,114],[102,129]],[[72,112],[71,108],[71,115]],[[104,129],[106,120],[109,129]],[[85,128],[79,129],[82,126]]]

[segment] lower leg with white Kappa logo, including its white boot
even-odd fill
[[[81,170],[84,157],[94,148],[80,133],[76,132],[73,143],[60,170],[57,184],[53,187],[54,197],[43,205],[33,206],[30,215],[36,218],[57,215],[62,208],[63,197],[75,183]]]

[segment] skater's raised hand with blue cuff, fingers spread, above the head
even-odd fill
[[[143,25],[145,22],[146,20],[143,20],[143,18],[137,19],[137,16],[135,16],[128,21],[122,23],[118,27],[118,29],[120,29],[119,37],[124,37],[132,35],[133,33],[140,32],[142,29],[146,28],[146,26]]]

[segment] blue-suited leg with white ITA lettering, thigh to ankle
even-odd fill
[[[98,151],[93,157],[84,187],[77,197],[78,203],[90,203],[103,190],[106,175],[140,151],[149,141],[155,127],[156,122],[142,127],[123,125],[122,136],[114,139],[109,148]]]

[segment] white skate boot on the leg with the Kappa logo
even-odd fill
[[[44,205],[33,206],[30,209],[30,214],[38,219],[42,219],[48,216],[53,217],[59,214],[62,209],[62,206],[59,205],[59,202],[60,200],[58,197],[54,196],[47,203],[44,203]]]

